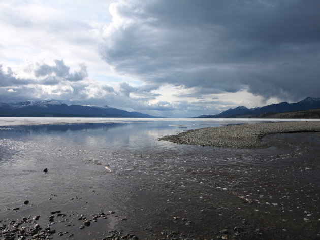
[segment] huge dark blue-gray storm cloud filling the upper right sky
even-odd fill
[[[100,45],[121,74],[196,95],[318,96],[320,1],[123,1]]]

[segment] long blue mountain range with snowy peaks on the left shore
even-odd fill
[[[1,117],[126,117],[151,118],[139,112],[128,112],[108,106],[61,104],[58,101],[25,101],[18,104],[0,104]]]

